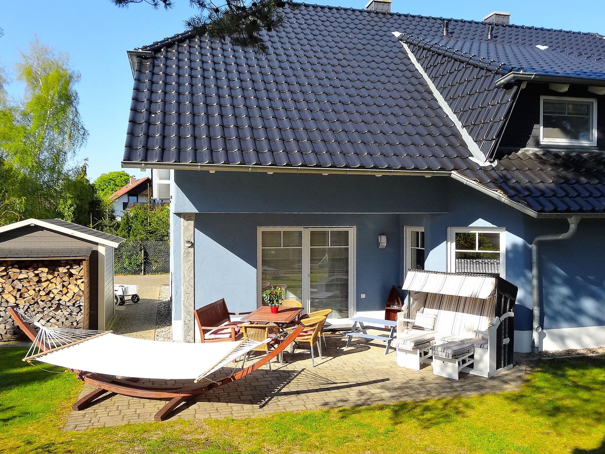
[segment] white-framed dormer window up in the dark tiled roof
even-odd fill
[[[540,97],[540,144],[597,145],[597,100]]]

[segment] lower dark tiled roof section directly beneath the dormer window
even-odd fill
[[[601,151],[522,150],[494,167],[459,173],[537,212],[605,211]]]

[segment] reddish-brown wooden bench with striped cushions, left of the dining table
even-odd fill
[[[229,312],[224,298],[196,309],[194,317],[200,330],[200,342],[237,340],[241,337],[240,327],[237,323],[231,322],[231,316],[246,315],[249,313]]]

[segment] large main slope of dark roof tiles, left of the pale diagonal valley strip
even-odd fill
[[[149,47],[125,161],[477,167],[390,15],[303,6],[286,16],[266,56],[207,37]]]

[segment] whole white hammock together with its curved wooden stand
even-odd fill
[[[131,397],[169,399],[154,419],[161,421],[180,404],[198,394],[232,383],[246,377],[267,364],[294,342],[304,329],[298,325],[281,340],[276,348],[245,369],[234,371],[224,378],[210,380],[208,384],[197,382],[217,372],[263,342],[172,343],[117,336],[111,331],[89,329],[51,328],[35,322],[15,308],[8,313],[19,328],[31,339],[33,345],[24,361],[40,361],[71,369],[76,377],[94,386],[71,408],[82,410],[108,392]],[[286,334],[284,334],[286,336]],[[123,378],[126,377],[126,378]],[[139,378],[152,380],[194,380],[188,386],[139,384]]]

